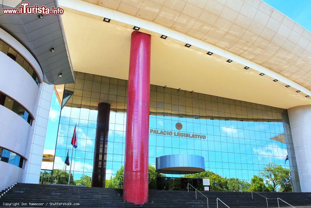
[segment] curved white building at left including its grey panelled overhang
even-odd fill
[[[17,4],[1,2],[0,18],[5,17],[2,7],[12,8]],[[52,21],[53,30],[59,28],[62,34],[58,16],[50,20],[38,15],[28,17],[31,18],[6,16],[6,24],[0,28],[0,190],[16,182],[39,182],[55,83],[51,77],[58,80],[56,83],[68,79],[63,66],[69,70],[68,81],[73,81],[65,39],[60,40],[56,35],[46,37],[49,34],[46,28],[39,32]],[[58,41],[53,42],[55,39]],[[52,47],[56,53],[50,50]],[[60,52],[64,52],[65,59]],[[59,73],[63,76],[58,76]]]

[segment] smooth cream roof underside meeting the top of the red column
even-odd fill
[[[133,26],[115,20],[104,22],[102,17],[65,8],[62,15],[72,65],[75,71],[128,79],[130,39]],[[196,93],[243,100],[283,109],[307,105],[310,100],[293,87],[257,70],[244,69],[236,61],[173,38],[160,38],[151,33],[151,84]],[[79,76],[77,76],[78,78]],[[79,79],[81,84],[81,80]],[[89,81],[87,81],[90,84]]]

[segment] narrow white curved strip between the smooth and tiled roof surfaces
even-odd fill
[[[95,1],[96,2],[96,1]],[[125,14],[123,12],[118,12],[106,7],[101,7],[96,4],[92,4],[89,2],[85,2],[82,0],[58,0],[58,3],[62,7],[67,7],[69,10],[75,10],[78,12],[84,12],[91,15],[95,15],[102,18],[109,18],[114,21],[118,21],[121,23],[125,23],[127,25],[131,26],[137,26],[142,29],[144,29],[144,32],[146,33],[158,33],[163,34],[165,36],[168,36],[169,38],[173,38],[175,40],[188,43],[192,45],[191,47],[195,46],[199,49],[203,49],[205,51],[211,51],[214,54],[217,54],[221,57],[225,57],[227,59],[233,60],[234,62],[237,62],[241,65],[248,66],[254,70],[257,70],[259,73],[263,73],[265,75],[268,75],[278,81],[281,81],[281,83],[285,83],[286,85],[290,85],[295,90],[299,90],[299,92],[303,92],[306,95],[311,96],[311,91],[307,88],[305,88],[302,85],[299,85],[293,80],[290,80],[288,77],[284,77],[283,75],[272,71],[262,65],[259,65],[251,60],[248,60],[242,56],[236,55],[228,50],[224,50],[218,46],[215,46],[213,44],[210,44],[208,42],[199,40],[197,38],[191,37],[187,34],[184,34],[182,32],[178,32],[173,30],[172,28],[164,27],[162,25],[159,25],[155,22],[150,22],[144,19],[141,19],[139,17],[134,17],[132,15]],[[72,11],[74,12],[74,11]],[[142,30],[140,30],[142,31]],[[259,74],[258,73],[258,74]]]

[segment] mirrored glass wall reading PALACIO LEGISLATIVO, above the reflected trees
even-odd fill
[[[70,142],[77,123],[73,177],[92,177],[97,108],[99,103],[109,103],[108,142],[103,156],[109,180],[124,163],[127,81],[80,72],[75,76],[76,84],[65,85],[72,96],[61,110],[53,169],[68,171],[64,161],[68,149],[71,155]],[[156,85],[151,85],[150,96],[150,165],[155,166],[159,156],[194,154],[204,157],[206,170],[222,177],[250,182],[271,162],[297,175],[295,156],[290,154],[293,145],[286,109]],[[182,124],[180,130],[177,123]],[[284,164],[287,154],[291,162]]]

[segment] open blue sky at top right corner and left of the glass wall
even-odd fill
[[[284,13],[295,22],[298,22],[307,30],[311,31],[311,0],[264,0],[264,2]],[[44,149],[55,150],[59,115],[60,105],[55,92],[53,92]]]

